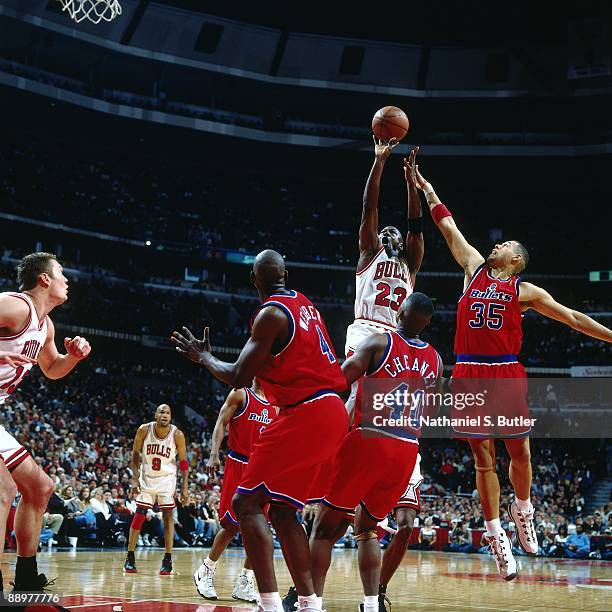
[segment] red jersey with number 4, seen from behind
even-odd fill
[[[288,407],[325,393],[344,391],[346,380],[319,311],[297,291],[275,293],[260,307],[275,306],[289,319],[289,342],[257,372],[266,397]],[[256,313],[257,315],[258,313]]]

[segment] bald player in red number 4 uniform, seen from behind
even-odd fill
[[[174,332],[172,341],[178,352],[221,382],[245,387],[256,376],[268,401],[280,408],[253,448],[232,505],[257,578],[260,609],[283,609],[264,513],[273,501],[270,520],[299,593],[298,609],[320,611],[308,540],[295,509],[312,497],[318,469],[334,456],[348,430],[346,409],[337,394],[346,389],[346,381],[321,314],[304,295],[288,290],[286,281],[279,253],[265,250],[257,255],[251,282],[262,305],[235,363],[212,356],[208,327],[202,340],[183,328],[185,336]]]

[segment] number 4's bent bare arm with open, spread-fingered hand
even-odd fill
[[[289,338],[289,319],[280,308],[262,308],[253,323],[251,337],[234,363],[213,357],[208,327],[204,328],[202,340],[195,338],[186,327],[183,333],[172,332],[171,341],[177,352],[205,367],[221,382],[236,388],[248,387],[270,354],[284,348]]]

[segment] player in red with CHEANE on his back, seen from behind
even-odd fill
[[[311,566],[317,595],[322,597],[338,527],[354,512],[365,595],[360,609],[364,612],[386,610],[379,594],[381,554],[376,525],[396,507],[408,487],[418,455],[423,410],[423,402],[415,400],[426,389],[435,388],[442,373],[438,352],[419,339],[432,314],[429,297],[413,293],[400,308],[396,331],[370,334],[342,364],[347,383],[359,383],[355,423],[338,450],[328,491],[315,519]],[[395,387],[379,386],[376,390],[381,395],[399,389],[408,392],[410,405],[374,407],[373,419],[370,404],[364,404],[364,399],[369,399],[364,384],[374,380],[390,380]],[[393,419],[393,424],[376,426],[381,416]],[[402,420],[407,422],[405,426],[395,425]]]

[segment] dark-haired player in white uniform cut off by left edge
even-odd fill
[[[50,379],[63,378],[91,352],[80,336],[64,338],[66,354],[55,346],[55,328],[49,313],[68,299],[68,279],[51,253],[31,253],[17,266],[20,293],[0,294],[0,405],[38,363]],[[0,545],[4,545],[6,518],[15,498],[17,540],[16,591],[41,591],[48,583],[38,573],[36,551],[42,517],[53,493],[53,482],[28,451],[0,425]],[[0,556],[2,550],[0,549]],[[0,592],[3,590],[0,572]]]

